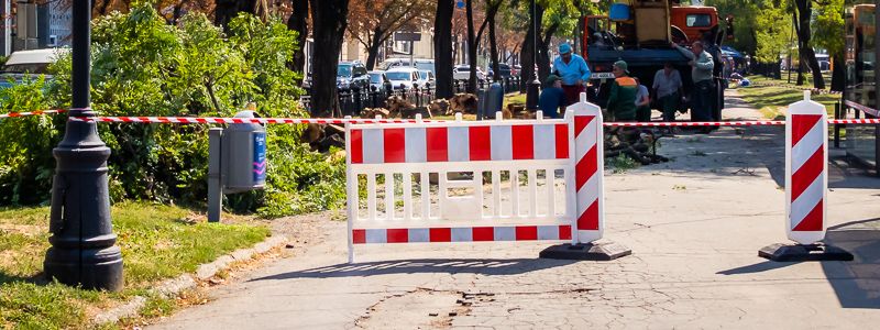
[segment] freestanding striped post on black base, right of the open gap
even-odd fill
[[[785,233],[796,244],[773,244],[758,255],[773,261],[850,261],[853,255],[823,244],[827,228],[828,121],[825,106],[804,100],[789,106],[785,119]]]

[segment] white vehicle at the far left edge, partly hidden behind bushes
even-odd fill
[[[8,88],[20,84],[25,77],[33,79],[40,75],[45,75],[46,81],[52,80],[52,76],[46,75],[48,66],[68,53],[69,48],[46,48],[10,54],[0,73],[0,88]]]

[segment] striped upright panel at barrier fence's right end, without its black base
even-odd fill
[[[590,243],[601,239],[605,230],[602,109],[586,102],[586,95],[581,94],[581,102],[569,107],[568,111],[574,116],[570,121],[574,141],[574,187],[578,191],[578,235],[574,243]]]

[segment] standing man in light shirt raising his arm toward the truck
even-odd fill
[[[691,121],[712,121],[712,96],[714,95],[712,74],[715,67],[712,55],[706,53],[703,43],[698,41],[691,45],[691,51],[675,43],[672,43],[672,46],[691,59],[688,64],[692,67],[691,78],[693,78],[695,87],[691,94]]]

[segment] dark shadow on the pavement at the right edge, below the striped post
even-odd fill
[[[851,262],[822,263],[845,308],[880,308],[880,218],[828,228],[825,242],[849,251]]]

